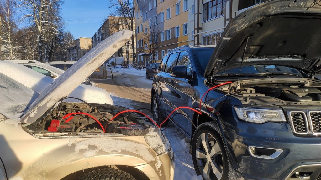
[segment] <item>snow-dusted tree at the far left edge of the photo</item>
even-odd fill
[[[0,55],[3,59],[16,58],[16,51],[19,46],[14,39],[13,31],[16,29],[15,21],[13,20],[13,2],[12,0],[0,0]]]

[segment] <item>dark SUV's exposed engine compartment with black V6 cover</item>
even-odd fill
[[[283,101],[310,102],[321,101],[321,90],[318,87],[297,85],[260,85],[238,91],[242,96],[271,96]]]

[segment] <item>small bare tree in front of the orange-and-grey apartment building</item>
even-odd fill
[[[165,35],[164,35],[165,36]],[[165,37],[163,37],[165,38]],[[161,42],[161,33],[158,26],[147,27],[147,32],[143,32],[143,49],[144,53],[150,53],[149,63],[156,62],[156,53],[159,51]]]

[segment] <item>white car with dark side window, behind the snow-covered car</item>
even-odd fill
[[[61,70],[59,68],[44,64],[36,60],[7,60],[7,61],[22,64],[30,69],[33,69],[37,72],[40,72],[43,75],[49,76],[54,79],[58,78],[62,73],[65,72],[65,70]],[[91,82],[88,78],[86,78],[82,84],[91,85]]]

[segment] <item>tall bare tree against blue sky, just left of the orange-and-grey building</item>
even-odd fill
[[[114,8],[112,14],[122,18],[120,21],[126,29],[133,31],[133,36],[131,38],[131,45],[133,49],[133,61],[136,61],[135,57],[135,41],[134,41],[134,31],[135,31],[135,4],[134,0],[108,0],[110,8]]]

